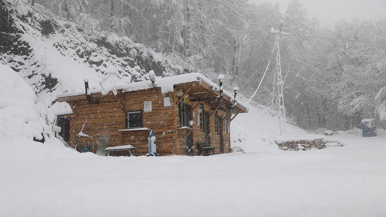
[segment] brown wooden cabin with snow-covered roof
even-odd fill
[[[149,132],[159,155],[198,155],[198,142],[229,153],[231,120],[248,108],[200,73],[176,75],[101,89],[57,95],[70,110],[56,112],[61,136],[78,151],[105,154],[106,147],[132,145],[135,155],[149,153]],[[231,115],[232,118],[231,118]],[[87,119],[87,121],[85,121]],[[82,149],[83,147],[83,149]],[[84,149],[88,147],[88,149]],[[125,151],[115,155],[126,156]]]

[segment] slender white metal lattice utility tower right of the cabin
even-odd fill
[[[283,80],[281,79],[281,64],[280,64],[280,32],[276,32],[276,73],[278,75],[278,93],[279,93],[279,124],[280,135],[286,135],[286,112],[284,110],[284,96],[283,96]]]

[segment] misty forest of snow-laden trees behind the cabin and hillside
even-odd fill
[[[279,5],[249,0],[29,0],[80,25],[84,34],[114,32],[163,53],[188,72],[224,74],[227,89],[278,107],[275,37],[284,20],[281,68],[287,116],[303,129],[345,130],[361,119],[386,120],[386,19],[337,20],[321,27],[297,0]],[[330,39],[322,39],[330,38]],[[331,39],[332,38],[332,39]],[[339,40],[333,40],[339,39]]]

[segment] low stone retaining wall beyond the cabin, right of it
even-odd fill
[[[322,149],[326,147],[325,139],[282,141],[280,143],[276,142],[276,144],[278,144],[279,149],[289,151],[306,151],[312,148]]]

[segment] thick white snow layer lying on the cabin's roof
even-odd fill
[[[209,80],[207,77],[202,75],[201,73],[189,73],[189,74],[183,74],[183,75],[175,75],[170,77],[164,77],[164,78],[157,78],[155,81],[155,86],[161,88],[162,93],[170,93],[173,92],[173,86],[183,83],[190,83],[190,82],[198,82],[202,81],[209,85],[212,89],[220,90],[220,87],[213,83],[213,81]],[[149,88],[153,88],[153,85],[150,80],[146,81],[138,81],[133,83],[128,83],[124,85],[117,85],[115,86],[115,89],[122,90],[122,92],[130,92],[130,91],[136,91],[136,90],[146,90]],[[90,90],[90,93],[100,93],[102,89],[92,89]],[[67,93],[60,93],[56,95],[56,98],[62,98],[62,97],[72,97],[77,95],[83,95],[86,94],[86,91],[77,91],[77,92],[67,92]],[[230,100],[234,100],[234,97],[232,94],[230,94],[227,91],[223,91],[223,94],[230,98]],[[242,102],[237,102],[238,105],[245,108],[245,110],[248,110],[248,107],[244,105]]]

